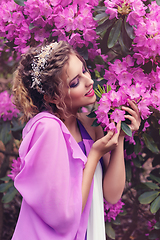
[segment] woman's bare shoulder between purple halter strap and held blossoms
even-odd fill
[[[96,141],[103,136],[103,131],[101,126],[93,127],[92,123],[95,118],[89,118],[87,115],[89,112],[78,113],[78,119],[81,121],[91,138]]]

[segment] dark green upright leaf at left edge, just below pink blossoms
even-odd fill
[[[2,128],[0,129],[0,140],[6,144],[11,140],[11,125],[10,122],[6,121],[2,123]]]

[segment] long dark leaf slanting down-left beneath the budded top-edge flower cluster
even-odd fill
[[[118,19],[114,26],[112,27],[109,37],[108,37],[108,48],[112,48],[116,42],[118,41],[118,38],[121,33],[121,26],[122,26],[122,19]]]

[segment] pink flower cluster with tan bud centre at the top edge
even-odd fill
[[[145,15],[146,6],[141,0],[105,0],[106,13],[109,19],[127,16],[131,25],[136,25],[139,19]]]

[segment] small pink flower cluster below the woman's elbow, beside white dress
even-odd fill
[[[105,221],[110,222],[111,219],[115,220],[117,215],[120,212],[123,212],[123,210],[122,210],[123,205],[124,205],[124,203],[121,201],[121,199],[116,204],[108,203],[104,199]]]

